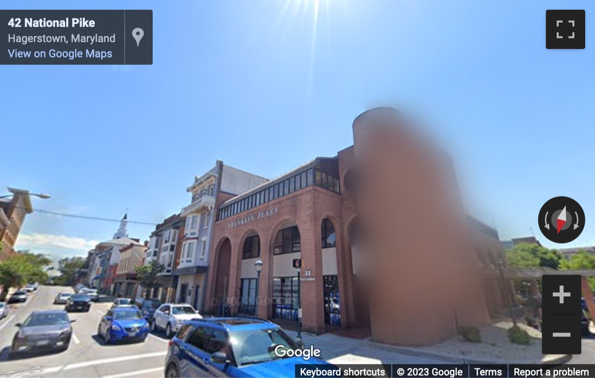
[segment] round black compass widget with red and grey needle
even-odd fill
[[[555,197],[539,211],[539,229],[555,243],[569,243],[578,238],[585,226],[585,213],[572,198]]]

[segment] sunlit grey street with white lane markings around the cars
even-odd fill
[[[149,335],[144,343],[121,343],[109,346],[104,345],[102,340],[96,338],[99,320],[111,306],[109,302],[93,303],[89,313],[70,314],[70,317],[77,321],[73,323],[74,333],[67,351],[9,359],[8,351],[12,337],[17,330],[14,324],[22,323],[27,315],[35,310],[63,308],[63,305],[52,304],[55,295],[61,291],[71,291],[71,289],[40,286],[36,293],[30,295],[26,303],[14,305],[16,308],[11,311],[10,315],[0,320],[0,346],[2,348],[0,351],[0,377],[10,377],[13,376],[12,374],[19,376],[17,371],[23,370],[30,371],[30,376],[35,377],[163,376],[168,340],[161,333]],[[387,351],[378,351],[377,353],[377,356],[381,355],[381,360],[384,363],[440,363],[440,361]],[[583,339],[583,354],[575,355],[570,363],[592,363],[593,355],[595,355],[595,339]],[[351,361],[353,356],[349,356],[347,355],[345,358],[349,360],[349,363],[354,363]],[[334,362],[337,363],[337,361]],[[341,361],[341,363],[346,363],[346,361]],[[23,371],[21,375],[25,376],[26,374]]]

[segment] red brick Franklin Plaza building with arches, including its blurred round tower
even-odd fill
[[[354,144],[237,196],[217,195],[207,298],[303,329],[369,327],[427,345],[485,324],[481,267],[452,161],[388,108],[353,123]],[[488,248],[489,249],[489,248]],[[256,293],[255,261],[264,263]],[[371,274],[370,274],[371,273]]]

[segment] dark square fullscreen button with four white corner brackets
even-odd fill
[[[547,10],[546,48],[584,49],[585,11]]]

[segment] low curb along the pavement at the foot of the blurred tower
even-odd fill
[[[427,358],[435,358],[437,360],[446,361],[448,363],[453,364],[503,364],[502,360],[493,360],[490,358],[468,358],[463,355],[453,355],[453,354],[446,354],[446,353],[439,353],[439,352],[430,352],[424,351],[415,348],[408,348],[406,346],[395,346],[395,345],[387,345],[381,344],[373,341],[366,341],[368,346],[371,346],[375,349],[381,349],[384,351],[391,351],[400,354],[412,355],[415,357],[427,357]],[[568,361],[572,360],[571,354],[562,354],[558,357],[551,358],[547,361],[538,360],[538,361],[514,361],[509,362],[506,361],[506,364],[537,364],[537,365],[561,365],[567,363]]]

